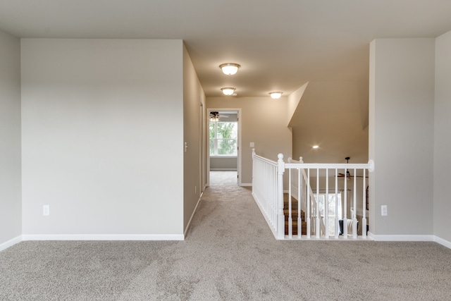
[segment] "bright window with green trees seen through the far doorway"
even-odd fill
[[[237,156],[237,122],[210,122],[210,156]]]

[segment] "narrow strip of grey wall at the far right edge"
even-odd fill
[[[451,32],[435,41],[434,234],[451,243]]]

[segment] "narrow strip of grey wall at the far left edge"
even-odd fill
[[[20,39],[0,30],[0,250],[22,234]],[[3,247],[2,247],[3,246]]]

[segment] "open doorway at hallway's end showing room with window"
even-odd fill
[[[240,109],[208,109],[207,185],[241,185]]]

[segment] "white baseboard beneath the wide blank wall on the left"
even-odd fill
[[[24,234],[22,240],[185,240],[183,234]]]

